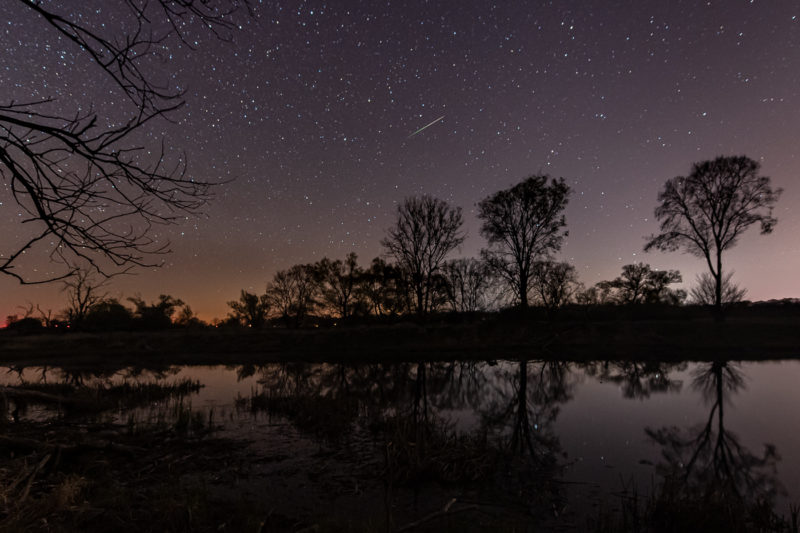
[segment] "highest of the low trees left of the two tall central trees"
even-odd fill
[[[353,313],[358,284],[364,270],[358,267],[358,256],[351,252],[344,261],[327,257],[314,265],[322,303],[342,320]]]

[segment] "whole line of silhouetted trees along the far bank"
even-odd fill
[[[645,250],[683,250],[706,260],[708,272],[687,293],[677,270],[645,263],[624,265],[612,280],[585,287],[574,265],[555,259],[568,236],[566,209],[570,188],[563,178],[534,175],[478,203],[480,233],[486,246],[477,258],[449,258],[463,243],[461,208],[428,195],[406,198],[381,245],[385,254],[368,266],[350,253],[280,270],[263,293],[242,290],[223,324],[260,328],[270,323],[298,327],[308,319],[348,321],[354,317],[415,316],[437,312],[474,313],[502,307],[543,307],[549,316],[567,304],[680,305],[687,299],[713,306],[741,301],[745,289],[723,270],[723,252],[751,225],[769,233],[777,223],[772,209],[781,191],[759,176],[747,157],[718,157],[693,165],[692,172],[666,182],[656,218],[661,232],[647,238]],[[167,327],[198,325],[183,301],[161,295],[132,308],[102,293],[91,271],[79,270],[63,281],[68,307],[59,315],[70,325]],[[49,311],[37,307],[40,321]],[[26,317],[32,318],[33,306]],[[11,317],[9,317],[11,319]],[[34,319],[35,320],[35,319]],[[14,322],[9,320],[9,322]]]

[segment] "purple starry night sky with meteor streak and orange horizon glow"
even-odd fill
[[[121,0],[45,4],[105,34],[127,24]],[[397,203],[422,193],[464,209],[454,256],[475,256],[477,202],[540,172],[573,189],[559,258],[585,284],[644,261],[688,286],[702,261],[642,252],[658,191],[693,162],[744,154],[784,189],[779,222],[725,260],[750,299],[800,297],[793,0],[286,1],[235,20],[230,42],[192,30],[193,50],[172,39],[146,64],[186,105],[144,141],[164,139],[220,185],[202,216],[158,228],[166,264],[115,278],[111,295],[168,293],[224,317],[278,269],[351,251],[366,265]],[[114,114],[118,91],[23,2],[0,2],[0,24],[3,99]],[[7,183],[0,223],[3,252],[24,233]],[[29,301],[57,310],[65,298],[58,284],[0,278],[1,316]]]

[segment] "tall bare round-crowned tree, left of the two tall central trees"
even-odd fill
[[[436,275],[447,254],[464,241],[460,207],[438,198],[406,198],[397,208],[397,222],[381,241],[408,275],[415,310],[423,316],[433,304]]]

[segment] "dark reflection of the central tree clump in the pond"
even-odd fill
[[[552,516],[560,502],[553,424],[578,380],[566,363],[282,364],[256,374],[250,408],[346,447],[348,461],[367,465],[352,470],[360,484],[383,483],[387,513],[409,491],[427,505],[447,494],[488,506],[492,520],[512,523]],[[359,432],[372,457],[352,446]]]

